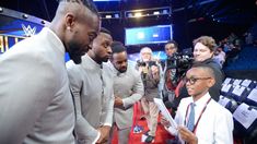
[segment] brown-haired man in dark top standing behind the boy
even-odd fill
[[[221,70],[221,67],[213,60],[213,55],[217,48],[215,40],[210,36],[201,36],[195,39],[192,44],[194,44],[192,65],[203,63],[213,69],[215,84],[212,87],[210,87],[209,93],[212,99],[219,101],[220,89],[222,87],[224,74],[223,71]],[[196,80],[196,81],[201,81],[201,80]],[[182,98],[189,96],[186,86],[184,85],[184,81],[180,81],[179,85],[182,86],[177,86],[177,88],[179,88],[178,96],[175,97],[174,100],[171,101],[170,104],[166,103],[166,107],[172,108],[173,110],[177,110],[177,107]]]

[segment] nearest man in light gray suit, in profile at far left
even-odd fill
[[[0,56],[0,143],[73,144],[65,52],[77,63],[100,27],[91,1],[60,1],[49,27]]]

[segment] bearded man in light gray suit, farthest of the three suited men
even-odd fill
[[[143,83],[135,67],[128,65],[127,51],[121,43],[113,43],[110,68],[114,76],[114,125],[118,128],[118,143],[128,144],[132,127],[133,104],[143,96]],[[113,135],[113,134],[112,134]],[[112,137],[110,135],[110,137]]]

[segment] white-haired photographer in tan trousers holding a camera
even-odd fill
[[[153,98],[160,97],[160,64],[157,60],[153,59],[152,50],[149,47],[144,47],[140,50],[140,57],[141,59],[138,61],[136,69],[141,72],[143,81],[144,96],[141,99],[141,106],[149,128],[149,132],[144,133],[147,136],[144,142],[151,143],[155,136],[160,111],[153,101]]]

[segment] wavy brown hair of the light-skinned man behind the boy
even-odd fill
[[[197,43],[201,43],[202,45],[207,46],[211,51],[215,51],[217,44],[211,36],[200,36],[197,39],[194,39],[194,46],[196,46]]]

